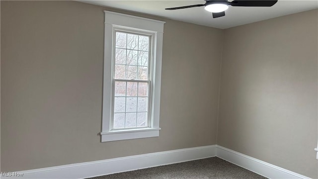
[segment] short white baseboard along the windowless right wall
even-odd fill
[[[218,145],[216,156],[269,179],[310,179]]]

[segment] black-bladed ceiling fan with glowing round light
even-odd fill
[[[189,7],[205,6],[204,9],[212,12],[213,18],[225,16],[225,10],[232,6],[258,6],[258,7],[270,7],[274,5],[277,0],[205,0],[205,4],[187,5],[181,7],[165,8],[166,10],[183,9]]]

